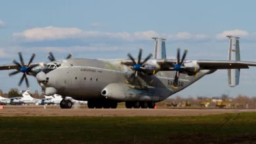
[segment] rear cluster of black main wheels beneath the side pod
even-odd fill
[[[142,109],[154,109],[156,103],[153,101],[125,101],[125,107],[127,109],[139,109],[140,107]]]

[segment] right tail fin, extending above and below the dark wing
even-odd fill
[[[239,38],[232,35],[227,35],[229,38],[228,45],[228,60],[240,61],[240,46]],[[237,86],[239,84],[240,69],[228,69],[228,85],[230,87]]]

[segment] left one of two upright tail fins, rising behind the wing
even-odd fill
[[[163,38],[152,37],[155,39],[154,59],[166,59],[165,40]]]

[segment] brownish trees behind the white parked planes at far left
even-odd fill
[[[35,90],[34,93],[32,92],[28,92],[28,93],[33,98],[37,98],[37,99],[45,98],[43,94],[39,94],[38,90]],[[20,97],[22,96],[22,94],[20,94],[20,91],[18,90],[18,88],[11,88],[11,90],[9,90],[8,93],[3,93],[3,90],[0,89],[0,96],[4,98],[14,98],[14,97]]]

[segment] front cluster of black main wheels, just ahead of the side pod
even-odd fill
[[[116,109],[117,101],[110,99],[91,99],[87,102],[87,106],[89,109]]]

